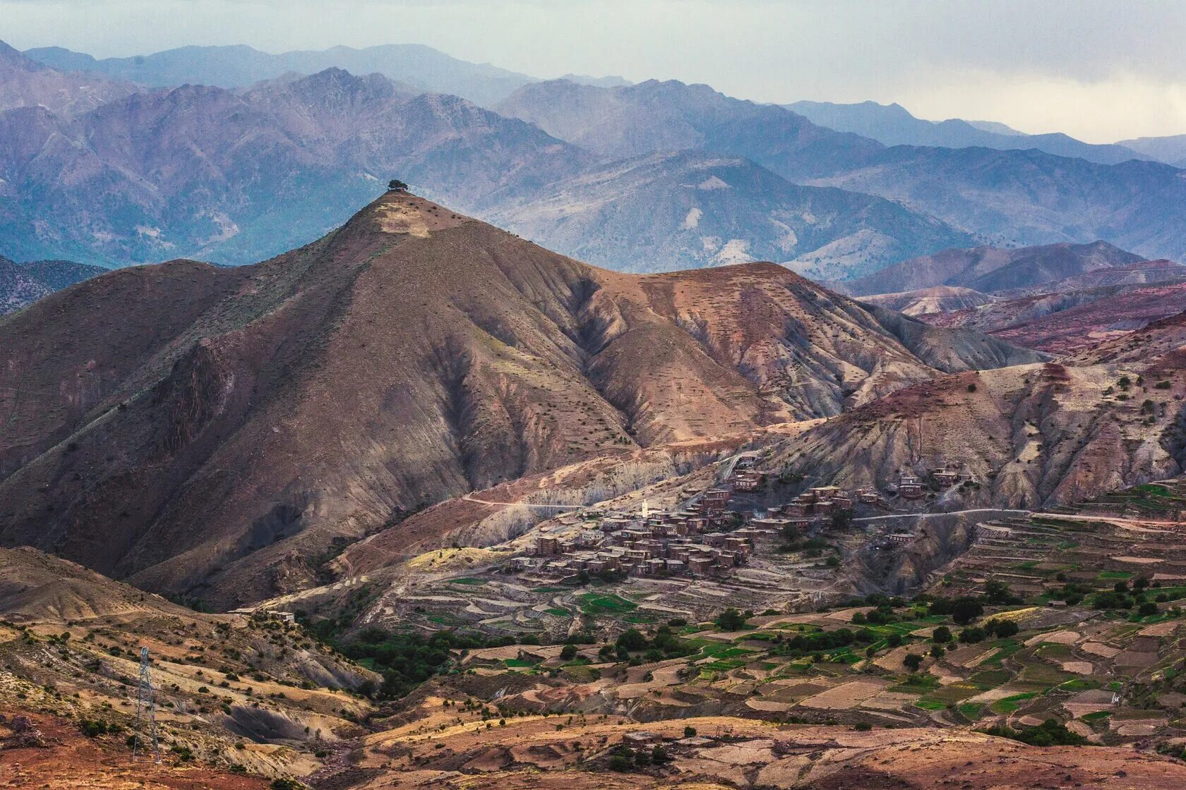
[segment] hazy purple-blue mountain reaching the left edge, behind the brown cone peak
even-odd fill
[[[14,258],[250,263],[349,218],[393,175],[472,207],[594,158],[455,96],[331,69],[235,92],[135,94],[74,118],[0,113]]]

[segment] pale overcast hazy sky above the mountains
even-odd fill
[[[1090,142],[1186,134],[1179,0],[0,0],[0,39],[100,57],[420,43],[538,77],[899,102]]]

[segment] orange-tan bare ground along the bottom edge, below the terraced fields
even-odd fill
[[[323,786],[447,788],[1182,788],[1186,765],[1129,747],[1034,747],[964,728],[773,725],[733,717],[649,722],[669,762],[611,770],[623,717],[484,722],[428,698],[407,724],[364,739]],[[497,714],[495,714],[497,715]],[[393,722],[394,724],[394,722]],[[487,728],[486,724],[491,726]],[[684,737],[693,727],[695,737]],[[649,751],[650,747],[646,747]],[[618,767],[621,767],[620,765]]]

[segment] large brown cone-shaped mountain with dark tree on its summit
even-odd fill
[[[255,266],[121,270],[0,322],[0,541],[259,599],[476,488],[1034,359],[929,332],[930,365],[780,266],[613,274],[393,192]]]

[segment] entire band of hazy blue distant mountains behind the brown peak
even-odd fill
[[[0,114],[0,231],[14,259],[249,263],[329,231],[393,175],[561,252],[632,271],[770,258],[844,281],[952,246],[1095,239],[1186,257],[1186,179],[1159,162],[886,147],[707,85],[538,82],[410,45],[31,54],[40,62],[7,52],[8,83],[49,75],[75,88],[11,90],[20,107]],[[397,81],[293,73],[331,63]],[[235,88],[138,89],[64,69]],[[270,79],[246,86],[257,77]],[[1090,148],[1059,150],[1114,159]],[[693,174],[728,188],[691,191],[683,179]],[[684,186],[667,188],[676,182]],[[614,232],[598,232],[601,223]]]

